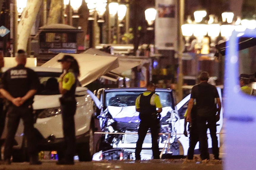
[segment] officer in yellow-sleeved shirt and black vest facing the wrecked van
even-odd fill
[[[140,112],[140,127],[138,129],[138,141],[135,149],[135,159],[140,160],[142,144],[150,128],[152,137],[152,151],[154,159],[160,159],[158,137],[160,130],[160,113],[162,105],[159,95],[155,94],[155,84],[148,82],[147,90],[140,94],[135,101],[136,111]],[[157,110],[158,108],[158,110]]]

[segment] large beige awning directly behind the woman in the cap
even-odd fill
[[[58,59],[61,59],[65,54],[60,53],[42,64],[41,67],[61,68]],[[91,54],[69,54],[75,57],[80,66],[79,81],[82,86],[88,85],[105,73],[118,67],[118,60],[115,56],[94,56]]]

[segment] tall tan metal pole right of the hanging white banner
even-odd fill
[[[183,36],[181,33],[181,25],[184,22],[184,0],[178,1],[178,84],[177,84],[177,91],[178,91],[178,102],[183,98],[183,67],[182,67],[182,53],[183,53]]]

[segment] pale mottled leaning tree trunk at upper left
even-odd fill
[[[27,49],[27,43],[31,28],[37,18],[41,0],[28,0],[27,7],[24,9],[17,31],[17,49]]]

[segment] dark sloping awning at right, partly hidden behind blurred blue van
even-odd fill
[[[245,48],[249,48],[252,46],[256,45],[256,38],[255,37],[241,37],[238,39],[238,50],[243,50]],[[216,45],[216,49],[217,49],[217,55],[221,54],[223,56],[225,56],[226,53],[226,49],[227,49],[227,43],[226,41],[220,44]]]

